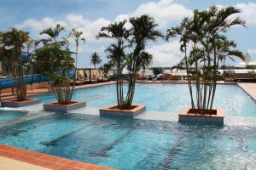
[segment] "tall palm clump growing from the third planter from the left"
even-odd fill
[[[126,20],[114,22],[102,27],[98,38],[110,38],[113,43],[105,50],[116,77],[116,90],[119,109],[131,109],[135,91],[137,72],[145,69],[152,61],[152,55],[145,52],[146,43],[162,37],[160,31],[155,30],[158,26],[154,18],[144,14],[132,17],[129,22],[131,28],[125,27]],[[124,95],[123,70],[129,71],[128,91]]]

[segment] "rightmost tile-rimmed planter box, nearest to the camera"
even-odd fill
[[[224,125],[224,111],[206,110],[208,114],[197,113],[198,110],[186,108],[182,113],[178,114],[178,122],[192,122],[203,124],[218,124]]]

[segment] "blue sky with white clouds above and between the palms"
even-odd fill
[[[18,27],[30,31],[32,39],[40,39],[40,31],[56,24],[67,28],[66,35],[72,28],[83,31],[86,42],[79,47],[80,68],[92,66],[90,54],[94,52],[101,55],[103,62],[107,61],[104,49],[110,42],[97,40],[96,35],[102,26],[113,21],[148,14],[158,23],[157,29],[166,34],[168,28],[177,26],[196,8],[235,6],[241,9],[239,16],[246,20],[247,27],[231,28],[228,37],[236,41],[238,49],[244,53],[247,50],[256,61],[256,0],[0,0],[0,4],[0,31]],[[70,48],[74,50],[74,43],[70,41]],[[149,43],[147,51],[154,57],[152,66],[171,67],[183,58],[175,38],[169,42]],[[240,62],[230,61],[230,65]]]

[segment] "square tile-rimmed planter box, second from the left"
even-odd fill
[[[72,103],[69,105],[60,105],[58,104],[58,102],[55,102],[55,103],[45,104],[44,110],[67,112],[67,111],[72,111],[85,106],[86,106],[86,102],[79,102],[79,101],[72,101]]]

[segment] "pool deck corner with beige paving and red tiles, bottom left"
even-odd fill
[[[82,161],[50,156],[32,150],[0,144],[0,169],[9,170],[114,170]]]

